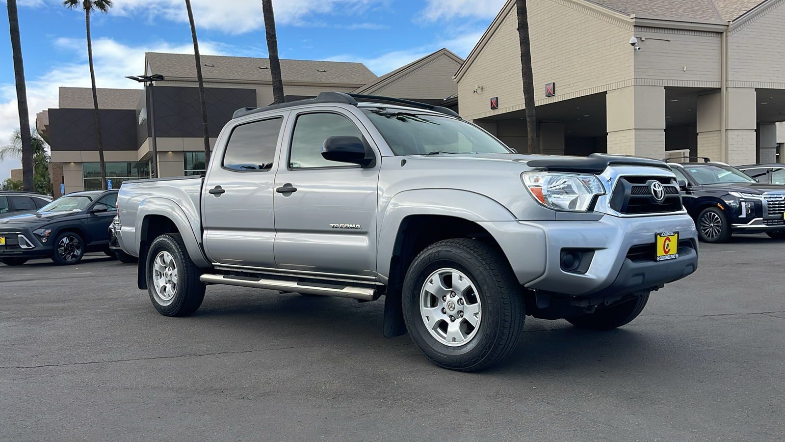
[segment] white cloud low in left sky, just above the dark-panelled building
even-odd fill
[[[59,50],[73,53],[71,63],[53,66],[38,78],[27,78],[27,106],[30,111],[30,124],[35,126],[35,114],[44,109],[57,108],[59,87],[90,87],[89,66],[87,64],[87,43],[83,39],[57,39]],[[199,42],[204,53],[221,55],[221,45],[214,42]],[[122,89],[141,88],[125,76],[144,73],[145,52],[193,53],[192,44],[172,45],[157,42],[144,46],[126,46],[112,39],[93,41],[93,63],[96,71],[97,87]],[[10,83],[0,83],[0,145],[8,144],[13,131],[19,127],[19,112],[16,106],[16,87]],[[0,182],[10,175],[11,168],[18,168],[19,161],[0,162]]]

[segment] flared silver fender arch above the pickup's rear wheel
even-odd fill
[[[199,241],[201,238],[196,237],[192,224],[190,221],[188,221],[188,216],[185,215],[183,209],[176,202],[164,197],[150,197],[139,204],[136,219],[137,234],[135,241],[137,256],[138,253],[141,252],[140,242],[142,234],[142,223],[144,222],[144,217],[148,215],[162,215],[168,219],[171,219],[172,223],[177,226],[177,230],[180,231],[185,244],[185,249],[188,250],[188,255],[191,256],[191,260],[194,262],[196,267],[212,267],[206,256],[204,256],[204,252],[202,251],[200,244],[201,241]]]

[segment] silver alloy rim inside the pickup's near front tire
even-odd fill
[[[461,271],[440,268],[420,291],[420,315],[425,328],[440,344],[468,344],[480,329],[482,305],[473,282]]]

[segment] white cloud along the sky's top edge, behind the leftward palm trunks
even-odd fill
[[[307,25],[304,19],[313,14],[363,12],[385,0],[278,0],[273,2],[276,24]],[[217,29],[229,34],[243,34],[264,28],[260,0],[192,0],[197,28]],[[111,14],[146,15],[151,19],[163,17],[177,22],[188,22],[182,0],[115,0]]]

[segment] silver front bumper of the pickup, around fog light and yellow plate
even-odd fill
[[[659,288],[698,268],[698,236],[686,214],[480,224],[529,289],[581,297],[619,295]],[[664,231],[679,232],[679,257],[658,262],[653,256],[655,234]],[[564,271],[562,249],[592,250],[586,273]],[[652,256],[636,253],[640,250],[650,250]]]

